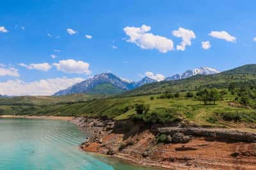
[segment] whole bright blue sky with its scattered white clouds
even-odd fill
[[[0,94],[51,95],[95,74],[158,81],[256,62],[255,1],[3,1]]]

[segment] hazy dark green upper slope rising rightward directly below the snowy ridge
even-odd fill
[[[163,92],[179,92],[198,90],[204,87],[227,88],[230,83],[256,83],[256,64],[245,65],[218,74],[197,75],[175,81],[160,81],[124,92],[122,96],[141,96],[161,94]]]

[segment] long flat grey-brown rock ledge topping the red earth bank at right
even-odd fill
[[[256,143],[256,133],[243,132],[228,129],[206,129],[200,127],[161,127],[157,128],[157,132],[164,134],[177,134],[182,133],[191,136],[211,137],[217,139],[225,139],[228,141],[242,141],[248,143]],[[173,140],[173,139],[172,139]]]

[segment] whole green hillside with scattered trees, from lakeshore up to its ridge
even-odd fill
[[[215,75],[152,83],[122,96],[76,94],[1,98],[0,114],[132,118],[150,124],[185,121],[197,125],[255,127],[256,74],[252,69],[256,69],[255,65]],[[108,84],[100,88],[105,86],[109,89]],[[209,94],[202,90],[205,87],[210,88]],[[202,92],[207,92],[211,99],[217,97],[216,103],[205,103],[207,96]],[[139,113],[138,108],[144,111]]]

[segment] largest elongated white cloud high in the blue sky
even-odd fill
[[[148,33],[150,30],[151,27],[147,25],[142,25],[141,27],[125,27],[124,32],[130,37],[126,41],[129,43],[135,43],[143,49],[156,48],[162,53],[173,50],[172,39]]]

